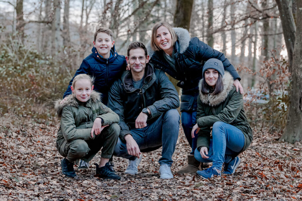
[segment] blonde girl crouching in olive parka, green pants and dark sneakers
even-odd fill
[[[119,116],[100,100],[100,93],[93,91],[93,78],[77,75],[72,82],[72,96],[55,110],[61,118],[57,133],[56,148],[65,157],[61,161],[66,177],[76,177],[73,164],[79,159],[89,162],[101,150],[100,164],[96,175],[100,178],[120,179],[108,163],[120,134]]]

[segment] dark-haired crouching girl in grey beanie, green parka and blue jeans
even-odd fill
[[[236,92],[233,82],[220,60],[209,59],[204,64],[197,98],[197,124],[191,135],[193,138],[198,133],[196,160],[213,162],[210,168],[196,172],[205,179],[220,176],[223,164],[223,173],[233,174],[241,161],[238,154],[245,151],[253,139],[243,109],[243,96]]]

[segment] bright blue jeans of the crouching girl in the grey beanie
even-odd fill
[[[210,140],[209,158],[202,158],[198,149],[195,149],[194,157],[203,163],[213,162],[213,167],[222,169],[223,163],[237,156],[244,146],[244,135],[233,125],[224,122],[215,122],[212,130],[213,139]]]

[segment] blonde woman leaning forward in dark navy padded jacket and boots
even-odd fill
[[[202,77],[203,65],[211,58],[220,60],[224,70],[233,76],[233,84],[237,91],[239,88],[243,93],[243,88],[239,83],[240,77],[223,53],[212,49],[197,37],[191,38],[188,30],[172,28],[166,22],[158,22],[153,26],[150,46],[149,63],[180,80],[177,86],[182,88],[180,105],[182,127],[192,151],[188,154],[188,165],[182,167],[177,173],[195,173],[200,162],[194,159],[197,140],[191,138],[191,130],[196,123],[198,82]]]

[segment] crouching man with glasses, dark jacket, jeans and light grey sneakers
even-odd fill
[[[114,82],[108,107],[120,117],[120,136],[114,156],[129,159],[125,174],[138,173],[142,152],[162,147],[161,179],[172,179],[172,154],[179,132],[178,93],[165,73],[148,63],[143,43],[133,42],[127,50],[130,71]]]

